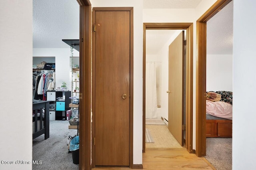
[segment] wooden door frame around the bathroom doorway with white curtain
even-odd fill
[[[146,30],[186,30],[186,149],[193,153],[193,23],[143,23],[142,152],[145,152],[146,148]]]

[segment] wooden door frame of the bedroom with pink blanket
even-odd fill
[[[217,0],[196,21],[196,155],[206,155],[206,22],[232,0]]]

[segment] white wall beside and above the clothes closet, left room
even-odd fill
[[[68,45],[67,45],[68,46]],[[79,56],[79,52],[74,49],[73,56]],[[71,90],[71,66],[70,66],[70,48],[34,48],[34,57],[55,57],[55,87],[60,87],[62,81],[67,83],[68,89]]]

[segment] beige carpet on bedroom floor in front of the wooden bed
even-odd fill
[[[232,170],[232,138],[206,138],[206,156],[217,170]]]

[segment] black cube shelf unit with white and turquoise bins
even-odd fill
[[[47,91],[46,98],[50,101],[49,120],[66,120],[66,111],[71,102],[71,91]]]

